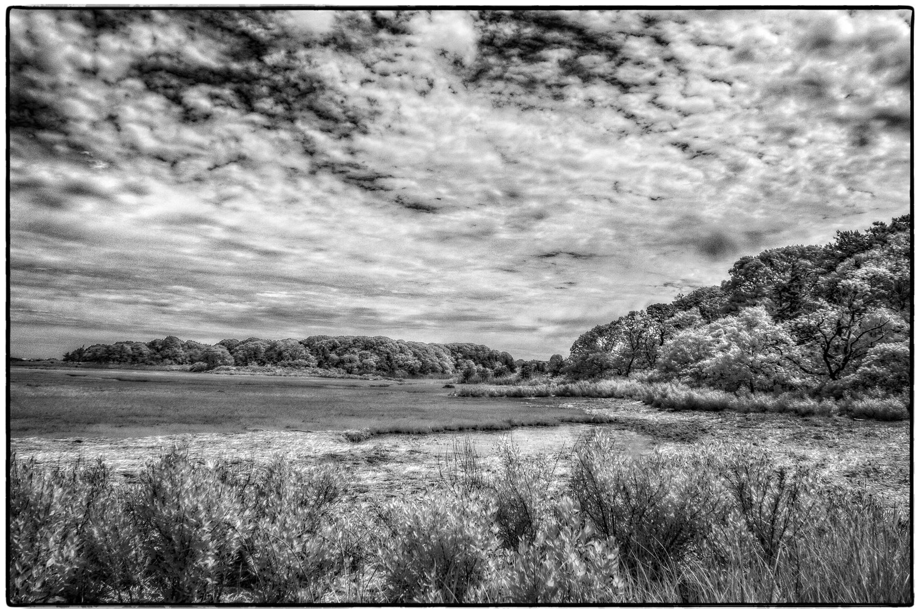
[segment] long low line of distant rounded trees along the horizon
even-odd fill
[[[471,343],[416,343],[386,336],[309,336],[303,340],[224,339],[217,345],[181,341],[176,336],[148,343],[121,341],[80,347],[63,359],[109,364],[282,366],[328,369],[346,374],[395,377],[477,374],[501,376],[515,369],[511,354]]]

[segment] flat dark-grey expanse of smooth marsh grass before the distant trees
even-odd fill
[[[190,372],[10,369],[12,437],[201,432],[430,432],[600,418],[544,403],[457,398],[443,380],[368,381]]]

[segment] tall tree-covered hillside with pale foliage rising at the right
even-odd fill
[[[679,380],[736,393],[906,395],[910,215],[831,244],[745,255],[719,286],[598,325],[571,346],[574,379]]]

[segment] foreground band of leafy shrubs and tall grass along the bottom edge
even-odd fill
[[[788,457],[712,443],[554,456],[463,442],[407,499],[329,465],[202,462],[136,482],[14,457],[13,604],[889,603],[912,600],[909,522]]]

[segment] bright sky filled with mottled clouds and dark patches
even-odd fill
[[[908,212],[911,17],[14,10],[11,352],[568,355],[740,255]]]

